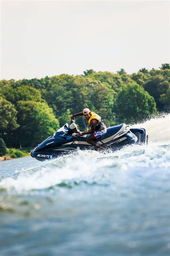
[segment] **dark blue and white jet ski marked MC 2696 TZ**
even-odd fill
[[[75,121],[71,120],[70,127],[66,123],[55,134],[35,147],[30,155],[39,161],[44,161],[68,154],[71,151],[77,151],[77,149],[99,150],[99,148],[86,142],[88,136],[90,134],[80,136]],[[107,133],[101,138],[95,139],[95,142],[115,151],[129,144],[147,144],[148,135],[143,128],[132,129],[129,125],[121,123],[121,125],[107,128]]]

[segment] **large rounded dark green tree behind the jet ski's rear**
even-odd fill
[[[135,82],[123,86],[115,100],[118,122],[137,122],[155,112],[154,98]]]

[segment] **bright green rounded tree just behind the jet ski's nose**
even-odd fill
[[[45,102],[19,101],[17,117],[20,127],[15,131],[16,143],[27,147],[41,143],[59,128],[52,108]]]

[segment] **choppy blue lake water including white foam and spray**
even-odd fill
[[[0,162],[1,255],[169,255],[169,116],[148,146]]]

